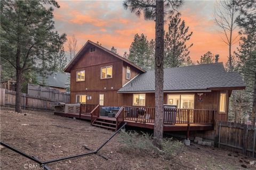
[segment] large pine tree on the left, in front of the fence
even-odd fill
[[[25,74],[40,71],[52,63],[54,48],[60,39],[54,31],[53,8],[55,1],[1,1],[1,58],[16,71],[15,111],[21,112],[21,84]]]

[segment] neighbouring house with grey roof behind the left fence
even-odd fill
[[[37,75],[37,81],[41,86],[47,86],[59,90],[60,92],[66,92],[69,78],[68,73],[53,72],[52,74],[42,77]]]

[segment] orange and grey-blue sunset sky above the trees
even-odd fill
[[[124,10],[123,1],[58,1],[60,8],[54,10],[55,28],[73,34],[80,49],[87,40],[99,41],[103,47],[117,48],[119,55],[129,53],[129,47],[136,33],[143,33],[148,40],[155,38],[154,21],[138,18],[129,10]],[[180,8],[181,19],[185,20],[193,32],[189,43],[190,56],[195,63],[207,51],[220,54],[220,61],[226,62],[228,46],[221,41],[218,27],[214,24],[214,1],[185,1]],[[167,23],[165,24],[165,30]],[[235,44],[233,50],[236,49]],[[67,48],[65,47],[67,50]],[[78,50],[79,50],[78,49]]]

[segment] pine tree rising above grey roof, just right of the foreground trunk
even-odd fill
[[[188,29],[189,27],[186,27],[185,21],[181,21],[178,14],[171,18],[164,39],[165,67],[178,67],[188,60],[189,48],[193,46],[193,44],[186,45],[193,34]]]

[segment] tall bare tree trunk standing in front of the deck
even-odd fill
[[[164,122],[164,2],[156,1],[154,145],[161,147]]]

